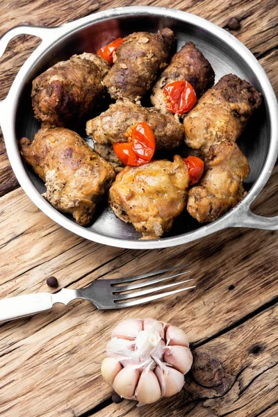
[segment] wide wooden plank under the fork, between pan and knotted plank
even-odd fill
[[[261,204],[257,204],[262,214],[270,215],[275,181],[265,190],[268,198],[259,197]],[[268,202],[263,203],[265,199]],[[1,224],[5,224],[0,228],[3,296],[47,291],[45,279],[49,275],[56,275],[61,286],[81,288],[96,277],[136,275],[161,268],[165,258],[167,265],[189,262],[197,281],[195,291],[167,300],[166,312],[161,302],[115,312],[96,311],[87,302],[74,302],[3,325],[0,380],[6,384],[6,403],[1,405],[0,399],[0,412],[7,417],[21,415],[22,407],[29,417],[54,416],[58,411],[71,416],[67,405],[80,415],[109,398],[108,387],[100,390],[96,381],[106,341],[120,318],[169,320],[188,329],[190,341],[204,343],[275,296],[277,238],[271,231],[231,229],[182,247],[126,251],[85,241],[58,227],[20,189],[0,202]],[[24,384],[17,383],[25,374],[28,379]],[[59,395],[47,402],[54,391]],[[45,398],[39,409],[38,396]]]

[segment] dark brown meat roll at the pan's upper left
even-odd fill
[[[104,97],[101,83],[110,69],[95,54],[74,55],[33,80],[35,118],[56,126],[76,126]]]

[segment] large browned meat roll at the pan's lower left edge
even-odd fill
[[[42,128],[31,143],[20,140],[25,161],[45,182],[44,197],[52,206],[71,213],[85,226],[97,203],[115,179],[113,167],[74,131]]]

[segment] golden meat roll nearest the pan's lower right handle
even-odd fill
[[[211,145],[204,161],[206,172],[189,190],[187,204],[188,213],[201,223],[212,222],[243,199],[243,179],[250,173],[246,156],[229,140]]]

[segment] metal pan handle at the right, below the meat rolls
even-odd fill
[[[244,208],[238,213],[231,224],[231,227],[250,227],[252,229],[278,230],[278,215],[267,218],[262,215],[252,213],[249,207]]]

